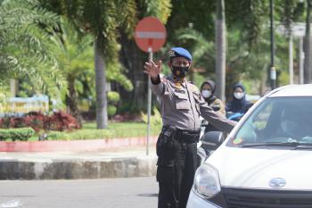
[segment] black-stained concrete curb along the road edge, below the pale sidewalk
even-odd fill
[[[0,179],[102,179],[156,174],[156,156],[98,161],[0,161]]]

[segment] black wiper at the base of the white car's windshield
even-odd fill
[[[311,143],[302,143],[302,142],[265,142],[265,143],[254,143],[254,144],[246,144],[241,147],[256,147],[256,146],[285,146],[285,147],[293,147],[295,149],[312,149]]]

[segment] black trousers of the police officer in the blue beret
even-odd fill
[[[196,142],[177,142],[173,165],[157,167],[160,192],[158,208],[185,208],[197,168]],[[159,158],[160,160],[160,158]]]

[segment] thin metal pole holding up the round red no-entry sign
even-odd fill
[[[148,48],[148,61],[152,62],[152,47]],[[151,132],[151,108],[152,108],[152,91],[151,91],[151,76],[147,78],[147,134],[146,134],[146,155],[149,154],[150,132]]]

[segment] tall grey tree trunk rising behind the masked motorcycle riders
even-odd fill
[[[224,0],[217,0],[216,53],[216,94],[224,101],[226,99],[226,20]]]

